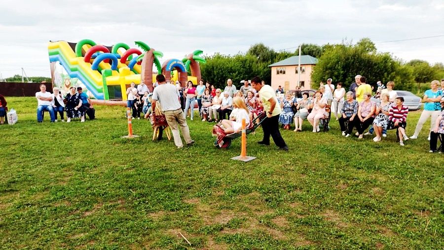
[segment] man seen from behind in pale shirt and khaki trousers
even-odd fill
[[[167,84],[165,82],[165,76],[163,74],[158,74],[156,76],[156,81],[159,84],[152,92],[152,110],[155,110],[156,103],[159,102],[160,106],[162,107],[162,111],[165,114],[168,126],[173,133],[174,143],[176,144],[177,148],[184,147],[181,135],[179,134],[178,124],[181,126],[185,143],[187,145],[192,145],[194,141],[191,140],[191,137],[189,136],[189,128],[186,124],[184,110],[182,110],[181,107],[179,91],[173,84]]]

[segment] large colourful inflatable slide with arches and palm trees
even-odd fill
[[[126,100],[126,88],[131,82],[144,81],[150,92],[157,72],[162,72],[167,81],[179,81],[185,86],[188,80],[197,84],[201,79],[199,63],[205,63],[196,50],[184,59],[169,59],[160,64],[163,53],[136,41],[139,48],[130,48],[126,43],[113,46],[97,44],[90,39],[77,43],[50,41],[49,62],[53,86],[63,95],[69,88],[82,87],[91,98],[98,100]],[[153,71],[153,67],[157,71]],[[188,75],[190,72],[191,75]]]

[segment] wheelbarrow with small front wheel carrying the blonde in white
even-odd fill
[[[267,118],[265,113],[260,113],[258,117],[254,118],[250,125],[245,129],[247,135],[254,132],[259,125]],[[242,131],[235,132],[232,134],[225,134],[225,131],[221,127],[221,124],[216,124],[213,126],[213,136],[216,136],[216,140],[214,142],[214,145],[221,149],[221,148],[228,148],[231,145],[231,140],[236,139],[238,137],[242,136]]]

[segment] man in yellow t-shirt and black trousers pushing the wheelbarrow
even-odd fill
[[[267,118],[262,122],[263,139],[259,144],[270,145],[270,136],[280,150],[288,151],[288,146],[279,132],[279,114],[281,107],[277,104],[276,92],[270,85],[262,84],[259,76],[251,79],[251,86],[259,92],[259,97],[263,104],[263,111]]]

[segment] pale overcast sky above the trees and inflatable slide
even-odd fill
[[[1,0],[0,74],[23,67],[50,76],[48,41],[84,38],[132,47],[142,40],[163,62],[196,49],[236,54],[258,42],[280,50],[370,37],[405,61],[444,63],[443,12],[443,0]],[[428,36],[440,37],[384,42]]]

